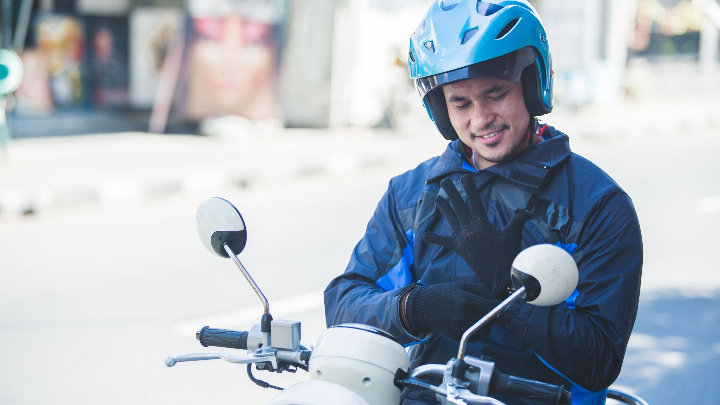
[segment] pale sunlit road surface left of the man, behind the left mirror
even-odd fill
[[[376,179],[218,192],[245,215],[243,263],[271,303],[322,289],[344,268],[386,187]],[[243,387],[269,396],[237,365],[163,365],[203,350],[179,324],[258,302],[233,264],[199,243],[204,197],[4,224],[0,257],[12,271],[0,287],[0,403],[197,404]],[[321,312],[311,316],[322,325]]]

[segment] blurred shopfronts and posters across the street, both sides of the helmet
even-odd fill
[[[402,127],[424,114],[406,55],[428,1],[441,0],[0,0],[0,32],[25,65],[7,102],[12,128],[58,135],[155,122],[197,133],[228,115]],[[714,89],[718,0],[531,3],[548,31],[558,106],[643,97],[667,81]]]

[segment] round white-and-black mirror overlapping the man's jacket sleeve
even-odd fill
[[[513,261],[513,285],[525,286],[525,300],[537,306],[565,301],[577,287],[577,264],[564,249],[551,244],[530,246]]]

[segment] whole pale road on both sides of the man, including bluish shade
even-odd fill
[[[618,384],[653,405],[678,404],[685,395],[716,400],[720,142],[573,147],[629,192],[642,223],[642,307]],[[3,220],[0,404],[269,398],[273,393],[247,383],[237,365],[163,365],[167,355],[202,351],[194,324],[254,323],[243,309],[256,306],[256,297],[230,262],[199,244],[195,209],[208,195],[238,205],[248,225],[244,264],[280,312],[276,318],[303,321],[305,338],[314,341],[323,313],[312,293],[343,270],[394,174],[373,170]],[[287,305],[308,293],[302,308]],[[271,377],[287,386],[303,376]]]

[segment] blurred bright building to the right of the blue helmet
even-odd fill
[[[558,104],[604,104],[664,90],[714,89],[716,0],[537,0]]]

